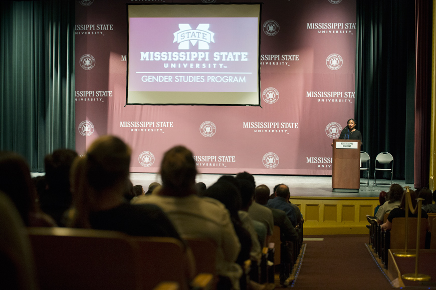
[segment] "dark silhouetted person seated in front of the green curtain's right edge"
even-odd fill
[[[58,149],[44,158],[47,187],[39,194],[39,203],[58,226],[65,226],[66,212],[72,204],[70,170],[77,156],[74,150]]]

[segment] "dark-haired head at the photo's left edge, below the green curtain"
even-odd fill
[[[14,202],[24,223],[36,210],[36,191],[26,160],[17,153],[0,151],[0,191]]]

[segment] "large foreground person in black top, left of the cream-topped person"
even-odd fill
[[[121,139],[103,136],[75,160],[71,174],[75,211],[70,226],[180,239],[158,206],[129,204],[124,199],[130,182],[130,155],[131,149]]]

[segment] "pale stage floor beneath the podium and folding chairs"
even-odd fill
[[[204,182],[206,186],[210,186],[220,178],[222,174],[198,174],[196,182]],[[155,173],[131,173],[130,179],[133,185],[141,184],[144,190],[147,191],[148,185],[152,182],[161,182],[160,176]],[[369,186],[360,185],[358,193],[353,192],[332,192],[332,177],[331,176],[288,176],[288,175],[255,175],[256,186],[265,184],[272,191],[276,184],[284,183],[289,186],[291,196],[331,196],[331,197],[378,197],[380,191],[388,191],[389,185],[373,186],[373,180],[369,180]],[[378,182],[390,183],[390,180],[378,180]],[[366,179],[361,179],[361,182],[366,182]],[[404,180],[393,180],[393,183],[398,183],[401,186],[410,186],[413,184],[405,184]]]

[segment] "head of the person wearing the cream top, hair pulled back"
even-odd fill
[[[163,155],[160,165],[162,191],[169,189],[172,194],[191,194],[195,190],[196,174],[195,160],[186,147],[175,146]]]

